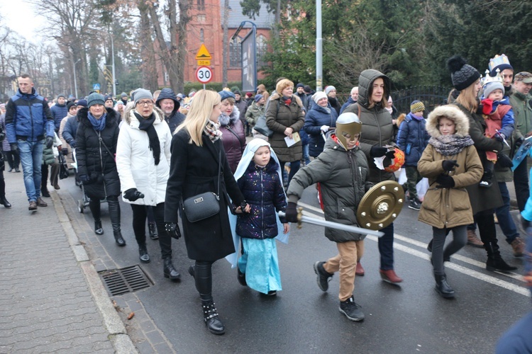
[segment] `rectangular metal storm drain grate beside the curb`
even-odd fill
[[[122,269],[104,270],[99,275],[104,280],[104,285],[111,296],[135,292],[153,285],[153,282],[138,265]]]

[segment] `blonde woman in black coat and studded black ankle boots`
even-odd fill
[[[214,334],[225,333],[218,318],[212,297],[212,264],[220,258],[234,253],[233,236],[228,219],[228,207],[240,212],[244,196],[238,189],[229,167],[221,142],[218,117],[221,115],[220,95],[214,91],[200,90],[182,125],[172,138],[170,151],[170,178],[165,199],[165,228],[177,232],[177,219],[182,201],[205,192],[218,193],[220,185],[220,212],[200,220],[189,222],[186,212],[182,218],[184,241],[189,258],[196,261],[189,273],[196,280],[196,289],[201,298],[204,321]],[[218,161],[221,156],[221,161]],[[218,163],[221,173],[218,176]],[[231,197],[233,205],[231,205]],[[249,206],[245,206],[249,211]]]

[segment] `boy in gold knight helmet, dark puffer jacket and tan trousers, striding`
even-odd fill
[[[288,191],[286,219],[297,222],[297,201],[309,185],[320,183],[325,219],[358,226],[356,213],[360,200],[370,189],[368,165],[359,148],[362,123],[355,113],[343,113],[336,120],[336,131],[328,137],[324,150],[311,164],[300,169]],[[353,188],[355,189],[353,193]],[[328,282],[340,273],[340,312],[351,321],[362,321],[364,314],[353,298],[355,269],[364,251],[365,234],[325,228],[325,236],[336,242],[338,255],[314,263],[318,287],[328,290]]]

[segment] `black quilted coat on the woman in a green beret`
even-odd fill
[[[88,108],[77,111],[79,125],[76,133],[76,159],[79,176],[87,175],[90,181],[83,183],[89,198],[102,200],[109,195],[120,194],[120,179],[116,171],[116,143],[118,142],[118,118],[113,108],[106,108],[104,130],[96,132],[88,118]],[[100,137],[103,143],[100,142]],[[111,154],[104,147],[111,151]]]

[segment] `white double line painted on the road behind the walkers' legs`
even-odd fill
[[[309,217],[315,217],[316,219],[321,219],[321,220],[325,219],[323,217],[323,210],[321,210],[320,208],[314,207],[312,205],[308,205],[308,204],[306,204],[304,202],[298,202],[298,205],[301,206],[301,207],[304,207],[306,210],[312,210],[314,212],[318,212],[319,213],[318,215],[316,215],[314,213],[305,211],[305,215],[307,215]],[[408,237],[401,236],[399,234],[394,234],[394,238],[398,239],[400,241],[404,241],[404,242],[406,242],[408,244],[412,244],[414,246],[418,246],[418,247],[420,247],[422,249],[426,249],[426,247],[427,247],[427,244],[424,243],[424,242],[416,241],[416,240],[413,240],[413,239],[409,239]],[[366,236],[366,239],[370,239],[372,241],[377,242],[377,237],[375,237],[375,236],[369,236],[368,235],[368,236]],[[409,253],[412,256],[416,256],[416,257],[419,257],[419,258],[426,259],[427,261],[431,260],[431,258],[425,252],[418,251],[416,249],[412,249],[409,246],[404,246],[403,244],[399,244],[397,242],[394,242],[394,249],[398,249],[399,251],[403,251],[403,252]],[[479,261],[475,261],[472,258],[468,258],[468,257],[465,257],[465,256],[460,256],[459,254],[455,254],[452,257],[455,260],[457,260],[457,261],[461,261],[461,262],[473,265],[473,266],[478,267],[478,268],[485,268],[485,263],[482,263],[482,262],[479,262]],[[466,268],[466,267],[464,267],[462,265],[458,265],[458,264],[455,264],[455,263],[445,263],[445,267],[453,269],[453,270],[456,270],[456,271],[458,271],[458,272],[460,272],[462,274],[469,275],[470,277],[477,278],[479,280],[483,280],[484,282],[489,282],[490,284],[497,285],[497,286],[502,287],[502,288],[504,288],[506,290],[510,290],[510,291],[516,292],[517,294],[525,295],[526,297],[530,296],[530,290],[528,290],[528,288],[526,288],[526,287],[512,284],[511,282],[507,282],[506,280],[501,280],[499,278],[492,277],[491,275],[480,273],[477,270],[472,270],[470,268]],[[522,275],[519,275],[517,273],[499,273],[499,272],[497,272],[497,274],[501,274],[501,275],[504,275],[506,277],[513,278],[513,279],[519,280],[519,281],[524,283]]]

